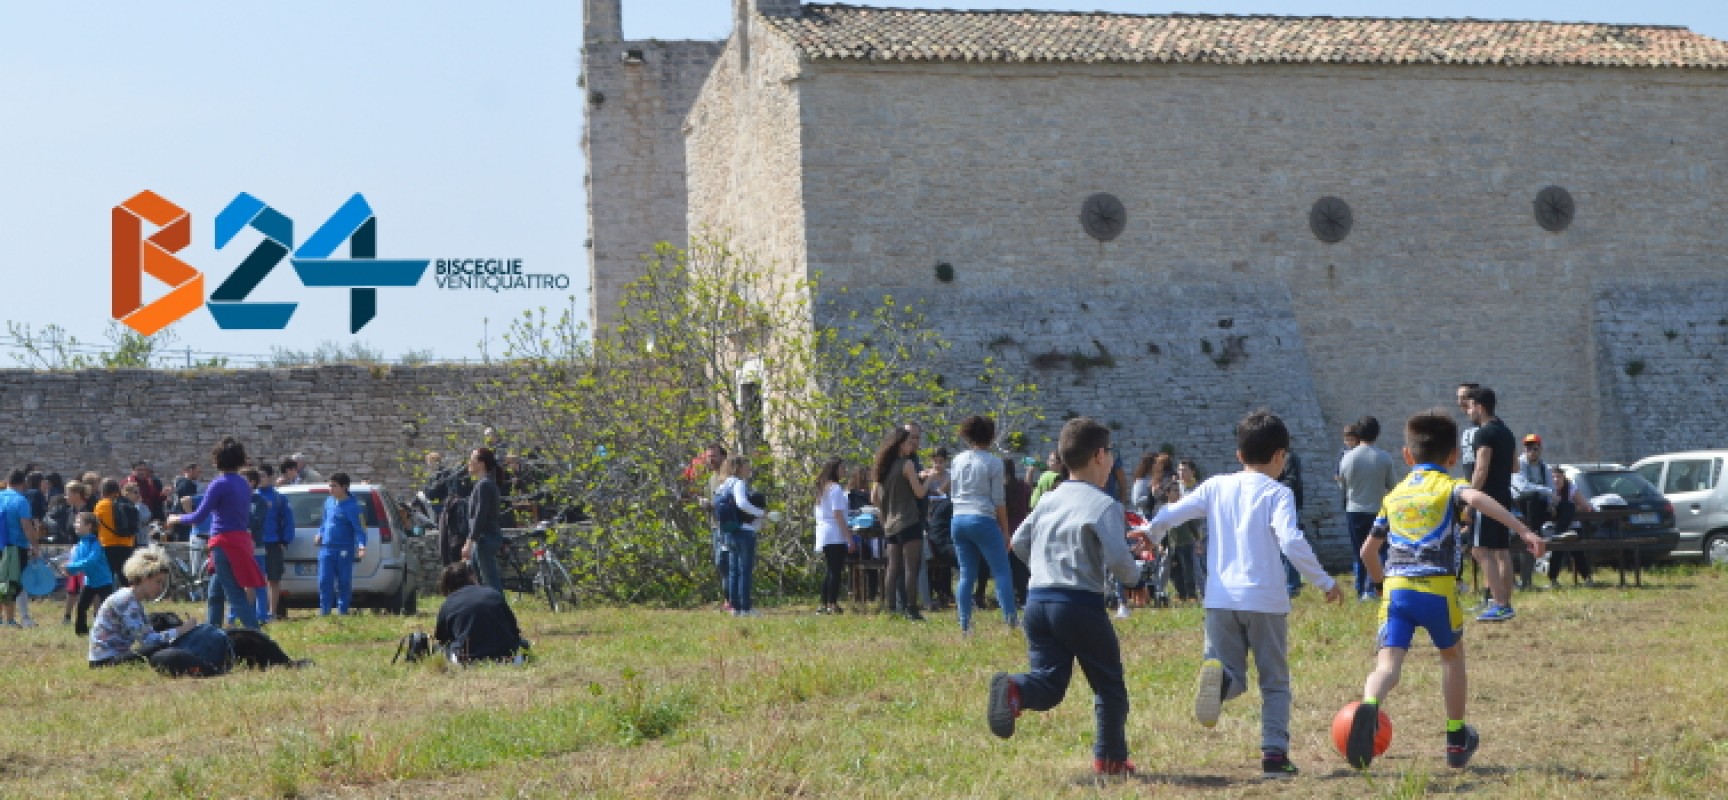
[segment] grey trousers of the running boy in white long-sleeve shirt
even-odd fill
[[[1248,691],[1248,651],[1260,674],[1260,750],[1291,750],[1289,620],[1284,613],[1206,608],[1206,658],[1223,663],[1232,700]]]

